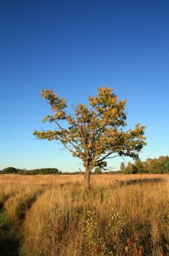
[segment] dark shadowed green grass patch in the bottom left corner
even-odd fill
[[[19,237],[13,229],[7,213],[0,213],[0,255],[19,255]]]

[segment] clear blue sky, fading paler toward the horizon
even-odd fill
[[[1,0],[0,24],[0,170],[81,167],[32,135],[50,129],[42,88],[76,104],[107,83],[128,98],[128,127],[147,126],[140,158],[169,154],[169,1]]]

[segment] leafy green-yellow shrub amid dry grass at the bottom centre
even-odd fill
[[[111,211],[104,226],[95,212],[88,211],[83,231],[86,255],[104,256],[124,253],[128,230],[117,211]]]

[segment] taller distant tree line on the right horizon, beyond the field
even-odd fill
[[[136,173],[154,173],[162,174],[169,173],[169,156],[160,156],[159,158],[147,158],[142,162],[139,158],[133,164],[121,162],[120,171],[123,174],[136,174]]]

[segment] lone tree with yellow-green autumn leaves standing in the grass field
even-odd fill
[[[106,159],[117,156],[137,159],[146,145],[145,126],[136,124],[135,129],[125,129],[127,100],[117,100],[113,89],[107,86],[97,91],[97,97],[89,96],[89,106],[72,106],[72,114],[69,114],[64,98],[59,98],[53,90],[42,90],[42,97],[52,110],[52,115],[47,115],[43,122],[54,122],[56,129],[34,131],[38,139],[60,141],[74,157],[82,160],[87,189],[90,189],[91,170],[95,166],[104,168]]]

